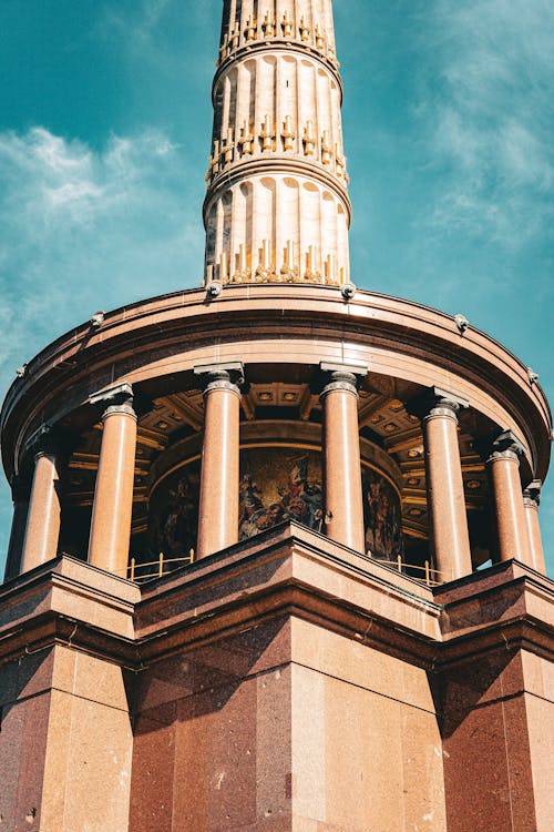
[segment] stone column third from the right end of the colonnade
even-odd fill
[[[468,513],[458,443],[458,414],[468,402],[438,387],[422,420],[428,510],[435,568],[442,581],[472,572]]]

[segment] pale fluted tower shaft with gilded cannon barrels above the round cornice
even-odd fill
[[[349,281],[332,3],[224,4],[206,174],[206,283]]]

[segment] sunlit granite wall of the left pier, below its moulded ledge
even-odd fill
[[[133,737],[120,668],[54,647],[2,668],[0,707],[4,829],[126,829]]]

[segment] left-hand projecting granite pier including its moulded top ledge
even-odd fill
[[[62,559],[0,595],[0,828],[126,830],[133,734],[123,670],[79,631],[129,636],[138,590]]]

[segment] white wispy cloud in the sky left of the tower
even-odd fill
[[[195,285],[198,199],[160,131],[101,152],[48,130],[0,133],[0,384],[95,308]]]

